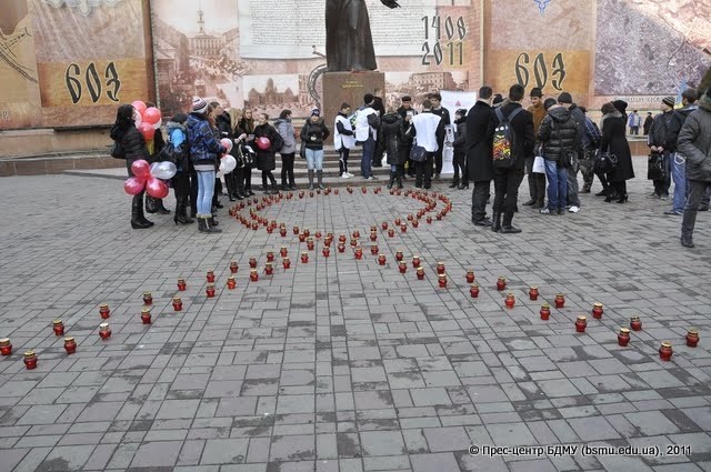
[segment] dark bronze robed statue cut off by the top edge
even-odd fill
[[[378,69],[365,0],[326,0],[326,61],[330,72]]]

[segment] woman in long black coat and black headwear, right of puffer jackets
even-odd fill
[[[620,113],[612,103],[602,106],[602,139],[600,140],[600,152],[609,152],[618,158],[618,164],[612,172],[608,173],[610,192],[604,201],[612,201],[612,192],[618,195],[618,203],[628,200],[627,181],[634,179],[632,168],[632,153],[627,141],[627,118]]]

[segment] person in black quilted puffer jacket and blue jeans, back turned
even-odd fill
[[[548,178],[548,207],[542,214],[564,214],[568,198],[568,155],[575,152],[578,145],[578,123],[565,107],[548,99],[543,103],[548,116],[541,122],[538,141],[545,162]]]

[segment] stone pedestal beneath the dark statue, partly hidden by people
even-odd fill
[[[323,110],[326,125],[333,134],[333,121],[341,110],[341,103],[351,106],[353,111],[363,104],[363,96],[373,93],[375,89],[385,90],[385,74],[375,71],[362,72],[324,72],[323,81]],[[374,94],[374,93],[373,93]],[[332,141],[332,140],[331,140]]]

